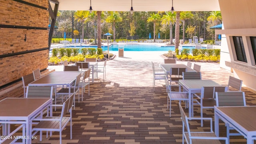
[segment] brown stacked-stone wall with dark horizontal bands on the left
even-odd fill
[[[23,96],[21,77],[48,67],[48,0],[0,0],[0,99]]]

